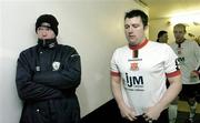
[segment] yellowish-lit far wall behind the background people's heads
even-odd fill
[[[174,42],[173,25],[174,24],[169,24],[169,19],[151,20],[149,25],[149,38],[151,40],[157,40],[158,32],[160,30],[166,30],[168,31],[168,35],[169,35],[168,42],[169,43]],[[194,25],[190,23],[187,27],[187,32],[194,34],[196,37],[200,35],[199,31],[200,31],[200,25]],[[190,37],[188,37],[188,33],[186,34],[186,38],[190,39]]]

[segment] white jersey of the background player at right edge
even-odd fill
[[[193,70],[200,66],[200,47],[194,41],[184,40],[181,44],[176,42],[170,44],[173,51],[179,57],[180,70],[182,73],[183,84],[200,83],[199,78],[190,78]]]

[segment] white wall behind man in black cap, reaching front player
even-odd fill
[[[36,44],[34,22],[42,13],[59,20],[59,42],[81,55],[78,88],[81,116],[112,99],[109,63],[113,50],[126,44],[124,11],[141,8],[133,0],[4,0],[0,1],[0,123],[17,123],[21,101],[16,90],[19,53]],[[148,11],[146,9],[146,11]]]

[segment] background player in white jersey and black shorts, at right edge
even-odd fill
[[[178,23],[173,27],[173,34],[176,42],[173,42],[171,48],[179,57],[180,70],[182,73],[182,91],[180,98],[184,98],[190,105],[190,115],[186,123],[193,123],[193,117],[197,107],[197,94],[200,92],[200,80],[199,80],[199,69],[200,69],[200,48],[196,41],[189,41],[184,38],[186,25]],[[171,114],[177,117],[177,105],[170,105]]]

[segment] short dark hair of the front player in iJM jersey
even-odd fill
[[[124,20],[127,18],[130,19],[130,18],[133,18],[133,17],[141,17],[143,25],[144,27],[148,25],[149,18],[148,18],[148,16],[142,10],[136,9],[136,10],[131,10],[129,12],[126,12]]]

